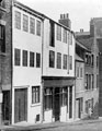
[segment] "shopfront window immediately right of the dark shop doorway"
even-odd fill
[[[61,88],[61,106],[67,105],[67,87]]]

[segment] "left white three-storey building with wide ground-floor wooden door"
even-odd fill
[[[42,27],[42,16],[13,3],[12,123],[41,121]]]

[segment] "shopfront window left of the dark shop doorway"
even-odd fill
[[[44,108],[45,110],[53,108],[53,88],[44,90]]]

